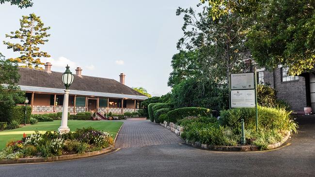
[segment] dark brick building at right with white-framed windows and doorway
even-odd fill
[[[274,71],[257,69],[257,82],[269,85],[277,92],[278,99],[289,103],[297,113],[303,113],[304,107],[312,106],[315,111],[315,75],[303,73],[299,76],[287,75],[288,68],[278,66]]]

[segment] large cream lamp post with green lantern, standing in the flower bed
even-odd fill
[[[61,125],[58,129],[60,133],[67,133],[70,132],[68,127],[68,101],[69,101],[69,87],[73,83],[74,75],[69,70],[69,66],[67,65],[65,72],[62,76],[62,81],[65,86],[64,90],[64,97],[63,97],[63,116],[61,118]]]

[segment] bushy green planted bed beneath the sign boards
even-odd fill
[[[235,108],[221,112],[221,118],[186,117],[176,125],[163,122],[162,126],[179,134],[194,147],[214,150],[247,149],[241,145],[241,123],[245,121],[246,144],[251,150],[266,150],[279,147],[291,131],[296,132],[298,125],[292,120],[291,112],[283,108],[258,107],[258,131],[255,130],[255,110]],[[232,147],[232,148],[231,148]]]

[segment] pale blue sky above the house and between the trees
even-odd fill
[[[75,73],[119,81],[126,74],[129,87],[143,87],[154,96],[171,91],[167,86],[172,56],[183,36],[180,6],[195,7],[198,0],[32,0],[33,7],[19,9],[0,5],[0,52],[18,57],[2,41],[5,34],[19,29],[22,15],[35,13],[51,36],[40,45],[51,57],[52,71],[64,72],[68,64]]]

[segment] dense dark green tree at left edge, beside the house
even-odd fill
[[[20,78],[17,67],[16,62],[5,60],[0,54],[0,121],[7,121],[13,106],[25,99],[24,92],[16,86]]]

